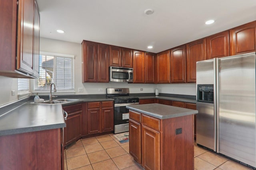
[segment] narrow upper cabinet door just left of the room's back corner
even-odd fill
[[[155,56],[154,53],[145,53],[145,83],[154,83]]]

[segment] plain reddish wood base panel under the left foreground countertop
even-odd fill
[[[0,136],[1,170],[64,170],[62,129]]]

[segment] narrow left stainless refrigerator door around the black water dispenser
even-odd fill
[[[214,84],[215,59],[196,63],[196,143],[215,150],[215,114],[214,104],[198,101],[198,86]]]

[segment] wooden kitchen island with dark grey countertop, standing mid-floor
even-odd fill
[[[129,109],[130,154],[146,170],[194,169],[194,114],[163,104]]]

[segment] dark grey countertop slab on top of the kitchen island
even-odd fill
[[[173,117],[180,117],[185,115],[192,115],[198,113],[197,110],[186,109],[183,107],[169,106],[164,104],[139,104],[126,106],[126,108],[149,115],[158,119],[169,119]]]

